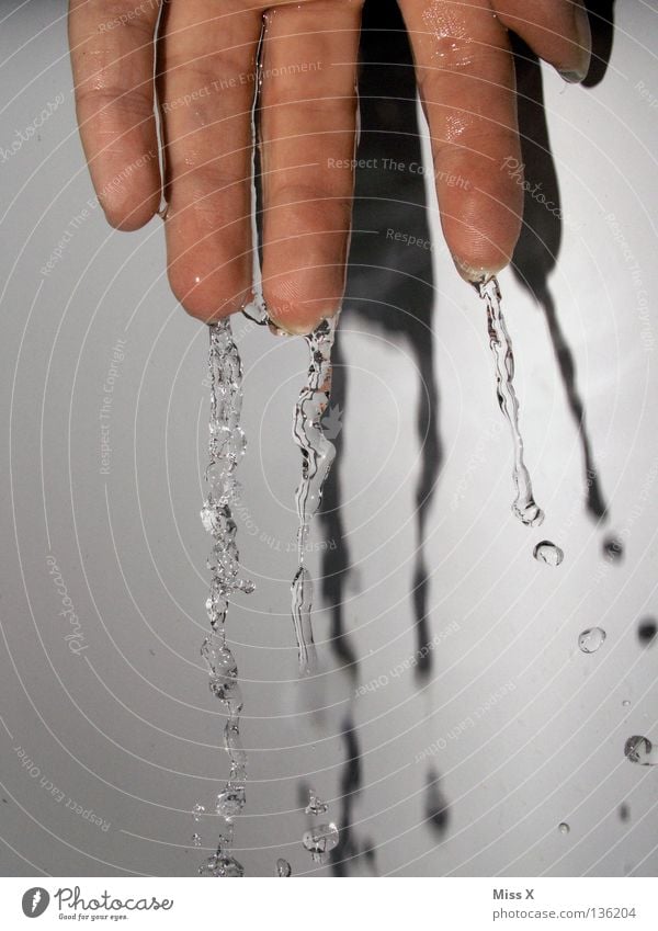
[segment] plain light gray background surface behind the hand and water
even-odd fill
[[[65,9],[1,5],[2,148],[57,94],[65,102],[0,164],[0,866],[4,875],[192,875],[202,852],[191,845],[191,808],[212,806],[227,771],[216,749],[222,716],[198,655],[207,332],[168,289],[159,220],[118,234],[93,209],[71,226],[92,189],[75,126]],[[376,849],[379,874],[656,872],[658,773],[632,765],[623,748],[633,734],[658,741],[658,645],[643,647],[636,633],[658,612],[658,107],[636,89],[644,81],[658,96],[657,12],[655,3],[617,4],[612,60],[597,88],[545,72],[570,219],[551,284],[610,501],[604,529],[585,513],[580,444],[545,320],[506,272],[527,461],[547,512],[541,531],[511,516],[511,450],[483,307],[452,268],[432,202],[445,459],[427,563],[431,636],[442,637],[420,686],[398,666],[409,667],[416,649],[413,411],[422,391],[404,334],[366,325],[349,305],[341,320],[342,516],[353,563],[344,612],[360,666],[356,681],[341,669],[319,605],[322,674],[298,683],[288,586],[299,461],[290,423],[305,348],[236,321],[250,440],[241,467],[248,511],[238,524],[258,591],[228,623],[246,683],[251,781],[236,850],[250,875],[273,875],[277,856],[295,874],[313,871],[300,845],[299,786],[315,785],[340,820],[348,714],[362,767],[353,833]],[[61,258],[43,275],[67,229]],[[374,240],[374,256],[377,248]],[[103,475],[99,413],[117,339],[125,359]],[[602,553],[610,532],[624,541],[621,561]],[[563,546],[559,569],[533,560],[543,537]],[[80,618],[80,655],[65,640],[48,555]],[[318,558],[310,565],[320,571]],[[593,625],[608,638],[586,656],[578,634]],[[450,806],[441,831],[427,821],[432,768]],[[110,827],[76,814],[69,798]],[[211,818],[198,828],[208,849],[214,828]],[[350,872],[370,874],[370,863],[361,858]]]

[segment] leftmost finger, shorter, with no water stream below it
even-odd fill
[[[93,186],[109,222],[138,229],[159,207],[154,34],[159,0],[71,0],[76,111]]]

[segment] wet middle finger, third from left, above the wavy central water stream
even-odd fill
[[[361,4],[279,8],[262,83],[263,295],[290,332],[339,308],[354,190]]]

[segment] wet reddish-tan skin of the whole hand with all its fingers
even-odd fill
[[[270,316],[295,333],[340,306],[362,5],[169,0],[156,42],[160,0],[70,0],[78,122],[100,203],[112,226],[134,230],[158,212],[163,192],[169,280],[200,320],[240,310],[252,293],[251,126],[263,24],[263,296]],[[509,31],[579,81],[591,55],[587,14],[580,0],[399,5],[443,232],[462,276],[478,281],[508,264],[521,227],[519,175],[500,168],[521,161]]]

